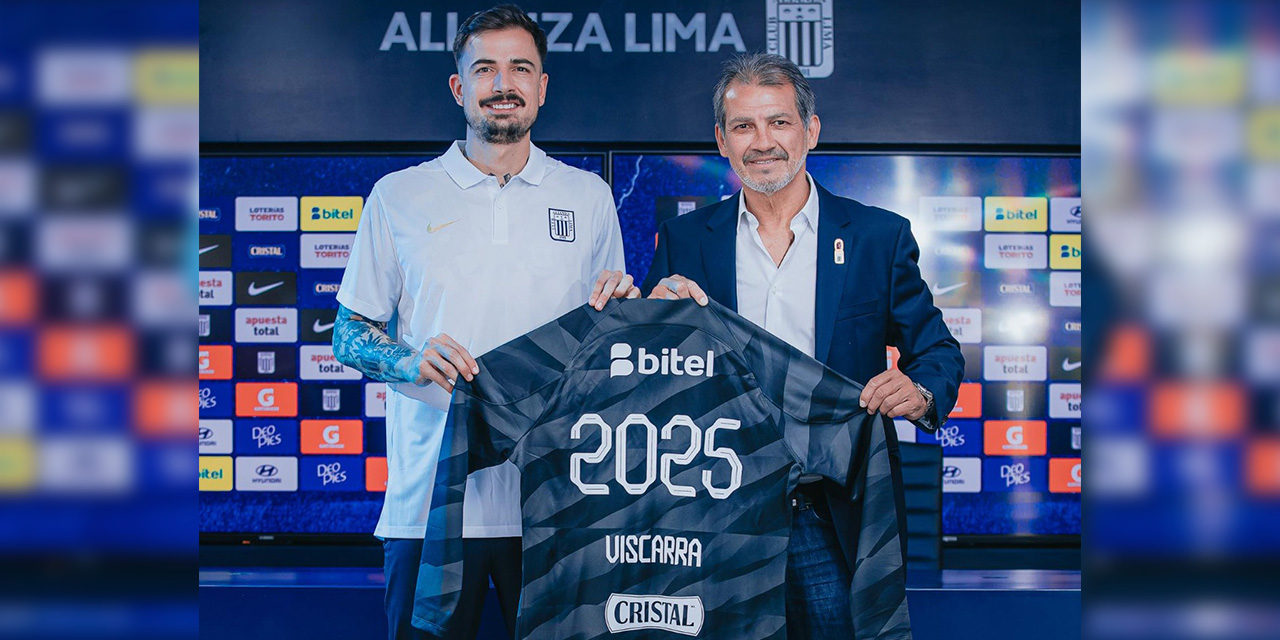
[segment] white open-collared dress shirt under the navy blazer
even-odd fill
[[[809,180],[809,200],[791,219],[795,239],[782,264],[774,265],[760,239],[760,220],[737,198],[737,312],[792,347],[814,355],[818,294],[818,189]]]

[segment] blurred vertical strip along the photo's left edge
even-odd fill
[[[195,637],[196,3],[0,3],[0,637]]]

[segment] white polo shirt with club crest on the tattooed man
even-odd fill
[[[586,303],[604,269],[623,269],[622,233],[598,175],[547,157],[506,187],[454,142],[443,156],[378,180],[365,202],[338,302],[390,323],[422,349],[447,333],[479,357]],[[379,538],[422,538],[449,394],[389,384],[387,498]],[[511,463],[467,479],[462,534],[520,535],[520,477]]]

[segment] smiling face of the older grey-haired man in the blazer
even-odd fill
[[[735,82],[724,92],[724,125],[716,125],[716,143],[746,188],[772,196],[804,170],[818,145],[818,116],[808,124],[791,84]]]

